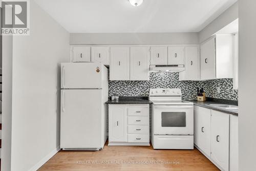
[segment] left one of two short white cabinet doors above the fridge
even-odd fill
[[[91,47],[74,46],[72,48],[72,62],[90,62],[91,61]]]

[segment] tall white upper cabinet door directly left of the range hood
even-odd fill
[[[131,47],[130,80],[149,80],[150,62],[148,47]]]

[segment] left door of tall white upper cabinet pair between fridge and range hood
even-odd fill
[[[110,80],[129,80],[129,59],[129,47],[111,47]]]

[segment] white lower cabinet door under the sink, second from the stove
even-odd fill
[[[229,168],[229,115],[211,110],[211,159]]]

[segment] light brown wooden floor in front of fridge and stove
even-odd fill
[[[154,150],[152,146],[105,145],[98,152],[60,151],[39,170],[210,171],[219,169],[196,148]]]

